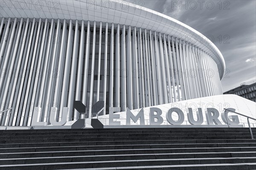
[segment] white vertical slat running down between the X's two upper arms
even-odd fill
[[[90,81],[89,117],[93,117],[92,106],[93,106],[93,92],[94,92],[95,48],[96,48],[96,21],[93,22],[93,51],[92,51],[91,81]]]

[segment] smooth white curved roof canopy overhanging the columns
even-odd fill
[[[174,36],[209,54],[218,65],[220,78],[224,76],[224,58],[207,37],[172,17],[142,6],[120,0],[5,0],[0,5],[0,17],[102,21]]]

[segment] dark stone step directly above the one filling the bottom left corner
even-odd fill
[[[96,156],[55,156],[37,158],[1,159],[0,164],[39,164],[54,162],[79,161],[115,161],[131,159],[192,159],[192,158],[231,158],[256,157],[255,152],[208,152],[208,153],[158,153],[158,154],[126,154],[126,155],[96,155]]]

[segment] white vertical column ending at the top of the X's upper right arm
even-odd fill
[[[98,76],[97,76],[97,102],[99,101],[100,69],[101,69],[101,41],[102,41],[102,22],[99,23],[99,57],[98,57]]]

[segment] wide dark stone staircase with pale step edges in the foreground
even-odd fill
[[[1,130],[0,169],[256,170],[256,140],[248,128]]]

